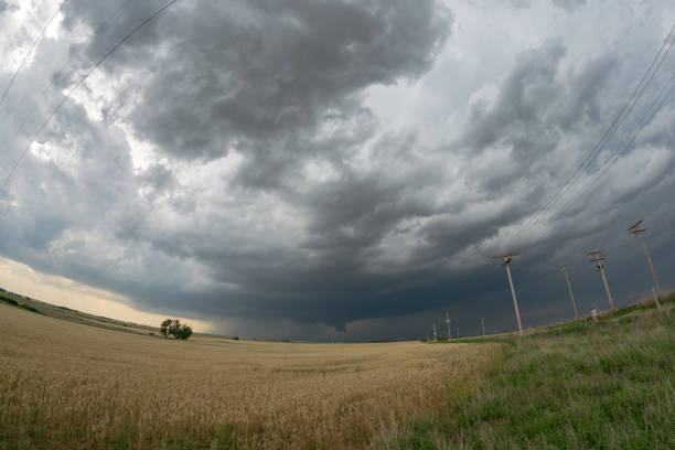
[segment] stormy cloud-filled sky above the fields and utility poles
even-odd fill
[[[673,289],[674,23],[669,1],[0,0],[0,286],[261,339],[444,335],[446,311],[503,332],[494,255],[519,254],[525,328],[568,320],[562,266],[609,307],[589,250],[619,306],[650,292],[644,219]]]

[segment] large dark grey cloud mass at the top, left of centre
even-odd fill
[[[125,14],[143,17],[136,9]],[[265,164],[277,151],[293,151],[270,149],[275,140],[292,141],[326,115],[351,113],[364,87],[428,71],[449,18],[433,1],[181,6],[135,38],[115,67],[149,68],[130,117],[140,137],[188,159],[217,158],[239,144]],[[109,39],[97,36],[88,54],[100,54]],[[149,42],[164,49],[147,55]]]

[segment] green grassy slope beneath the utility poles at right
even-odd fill
[[[673,299],[664,303],[672,303]],[[675,310],[653,303],[504,338],[474,389],[435,419],[386,433],[388,449],[674,449]],[[628,311],[626,311],[628,310]]]

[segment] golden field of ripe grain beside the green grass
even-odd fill
[[[430,417],[495,344],[120,333],[0,306],[4,448],[363,448]],[[12,447],[15,446],[15,447]],[[0,447],[1,448],[1,447]]]

